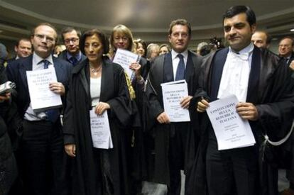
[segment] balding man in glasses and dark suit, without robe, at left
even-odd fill
[[[24,194],[67,194],[61,108],[34,111],[26,77],[27,71],[55,69],[58,82],[48,84],[48,88],[65,102],[72,65],[53,57],[57,38],[55,28],[49,23],[36,26],[31,35],[33,55],[11,62],[6,69],[9,80],[16,83],[16,104],[18,113],[23,117],[18,165],[25,184]]]

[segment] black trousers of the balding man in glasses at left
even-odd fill
[[[58,121],[24,121],[21,169],[26,194],[68,194],[65,154]]]

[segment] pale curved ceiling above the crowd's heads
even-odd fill
[[[289,35],[294,28],[294,0],[0,0],[0,38],[17,40],[46,21],[58,29],[99,28],[106,33],[121,23],[136,38],[165,42],[170,21],[185,18],[192,25],[192,40],[206,40],[222,37],[222,13],[236,4],[251,6],[258,29],[271,35]]]

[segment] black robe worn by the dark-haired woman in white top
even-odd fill
[[[102,65],[100,101],[111,107],[107,112],[114,148],[109,150],[92,147],[89,61],[85,60],[72,71],[64,116],[65,144],[75,143],[77,147],[72,165],[72,192],[105,194],[108,189],[115,195],[129,194],[131,100],[124,69],[109,60],[104,60]]]

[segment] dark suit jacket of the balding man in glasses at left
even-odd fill
[[[30,94],[28,92],[26,71],[33,69],[32,62],[33,55],[15,60],[6,67],[6,73],[9,81],[16,84],[16,91],[18,92],[16,104],[18,106],[18,113],[20,113],[21,117],[24,116],[31,102]],[[66,92],[70,74],[72,72],[72,65],[56,57],[53,57],[53,64],[58,82],[61,82],[64,85]],[[62,96],[62,104],[65,105],[65,96]]]

